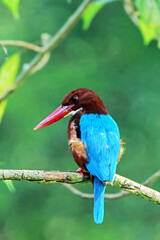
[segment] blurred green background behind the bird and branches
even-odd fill
[[[0,39],[37,42],[41,33],[56,33],[80,1],[21,1],[20,20],[0,6]],[[21,62],[35,55],[17,50]],[[0,64],[3,63],[1,50]],[[0,126],[0,166],[5,169],[76,170],[63,119],[33,128],[60,105],[70,90],[96,91],[119,125],[126,152],[117,173],[142,182],[159,169],[160,50],[144,46],[139,30],[122,3],[106,5],[88,31],[80,21],[56,48],[41,71],[31,75],[9,98]],[[15,182],[10,193],[0,183],[0,240],[110,239],[159,240],[160,209],[136,196],[105,201],[104,223],[92,217],[93,201],[73,195],[60,184]],[[159,190],[160,181],[152,185]],[[76,185],[92,192],[91,184]],[[108,187],[107,192],[118,188]]]

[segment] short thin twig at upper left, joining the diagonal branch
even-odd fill
[[[0,44],[3,44],[4,46],[17,46],[17,47],[23,47],[30,50],[33,50],[35,52],[41,52],[42,47],[39,47],[35,44],[25,42],[25,41],[17,41],[17,40],[0,40]]]

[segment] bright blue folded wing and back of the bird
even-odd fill
[[[86,168],[100,181],[113,181],[120,152],[120,134],[110,115],[84,114],[80,118],[81,140],[86,145]]]

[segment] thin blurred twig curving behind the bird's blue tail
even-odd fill
[[[155,182],[159,178],[160,178],[160,171],[154,173],[145,182],[143,182],[142,185],[144,185],[144,186],[151,185],[153,182]],[[76,188],[74,188],[71,185],[68,185],[68,184],[65,184],[65,183],[62,184],[62,185],[65,186],[66,188],[68,188],[75,195],[78,195],[78,196],[83,197],[83,198],[94,198],[93,194],[81,192],[81,191],[77,190]],[[119,193],[105,194],[104,197],[107,200],[115,200],[115,199],[123,198],[123,197],[129,196],[129,195],[131,195],[131,192],[120,191]]]

